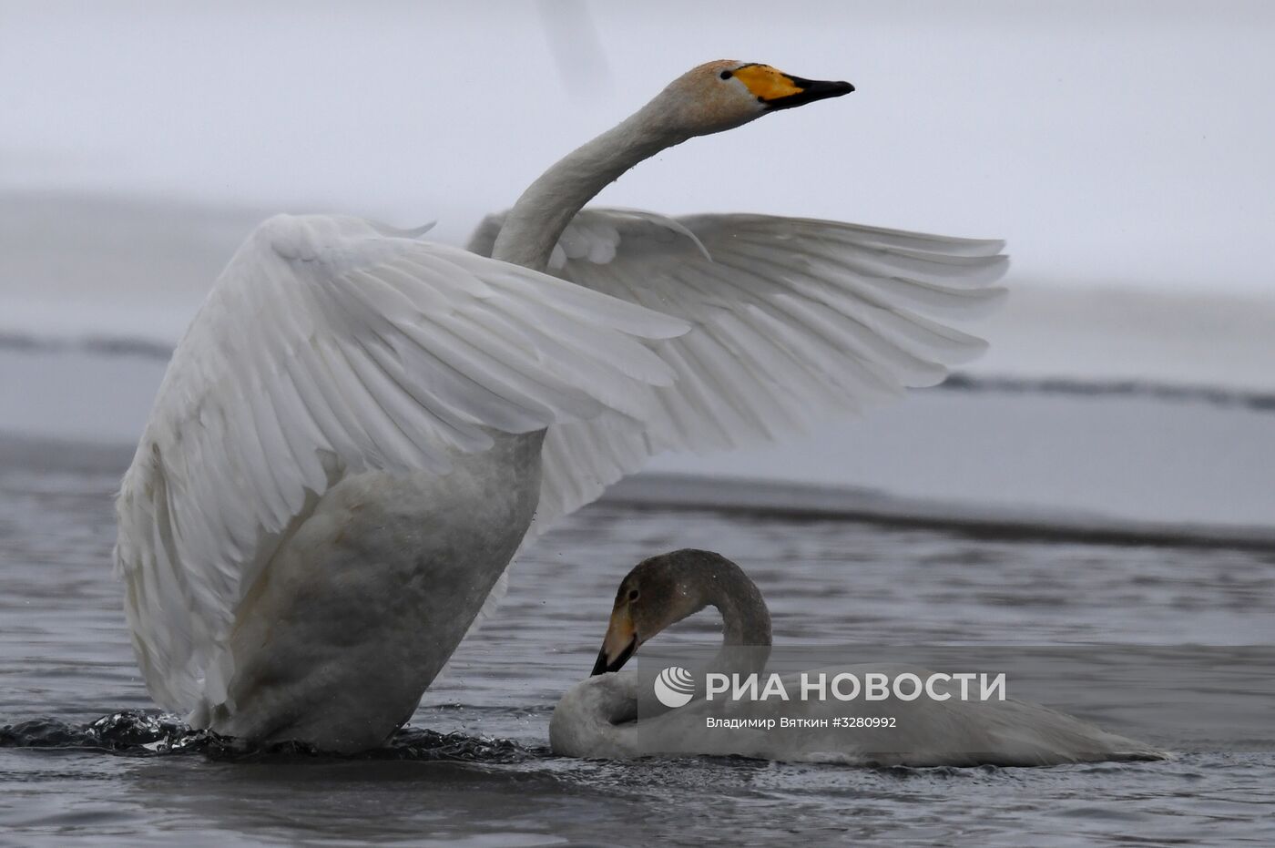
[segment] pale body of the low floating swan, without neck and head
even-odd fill
[[[926,680],[929,671],[914,666],[864,663],[815,669],[829,677],[849,672],[912,672]],[[650,676],[617,672],[589,677],[562,696],[550,722],[555,754],[588,759],[641,756],[746,756],[788,763],[835,763],[862,766],[1061,765],[1107,760],[1160,760],[1149,745],[1108,733],[1039,704],[1006,699],[958,700],[956,687],[946,701],[922,698],[903,701],[738,701],[723,709],[703,699],[659,715],[632,719]],[[784,677],[790,692],[799,680]],[[943,692],[941,686],[936,691]],[[618,717],[620,720],[612,720]],[[827,720],[827,727],[792,731],[708,728],[708,718]],[[834,727],[834,719],[892,718],[896,727]]]

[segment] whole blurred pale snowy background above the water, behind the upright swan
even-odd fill
[[[857,91],[667,150],[597,203],[1003,237],[1012,296],[945,389],[657,471],[1275,524],[1272,31],[1262,3],[0,4],[0,432],[135,442],[268,214],[463,242],[736,57]]]

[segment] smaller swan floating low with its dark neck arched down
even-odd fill
[[[616,593],[611,624],[593,676],[571,687],[550,722],[550,745],[565,756],[629,759],[650,755],[741,755],[847,765],[1057,765],[1099,760],[1158,760],[1151,746],[1108,733],[1056,710],[1012,699],[960,700],[955,682],[936,684],[947,700],[801,700],[801,680],[783,678],[793,700],[697,698],[667,712],[639,713],[638,699],[653,677],[618,672],[638,648],[666,627],[717,607],[723,620],[719,672],[757,672],[770,648],[770,613],[756,584],[725,557],[709,551],[673,551],[638,564]],[[825,680],[845,672],[894,678],[929,672],[898,663],[822,669]],[[817,675],[817,669],[811,672]],[[765,677],[765,676],[764,676]],[[910,686],[910,684],[909,684]],[[646,690],[644,692],[643,690]],[[905,690],[910,692],[910,689]],[[703,690],[700,692],[703,695]],[[648,701],[649,703],[649,698]],[[658,705],[654,705],[658,710]],[[640,718],[639,718],[640,715]],[[706,718],[829,719],[827,728],[776,732],[752,727],[713,728]],[[835,727],[833,719],[894,719],[894,728]],[[635,720],[636,719],[636,720]]]

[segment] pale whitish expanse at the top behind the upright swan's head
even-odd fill
[[[0,186],[437,218],[459,240],[734,57],[858,91],[666,152],[599,203],[1001,236],[1020,278],[1275,291],[1275,4],[552,9],[0,0]]]

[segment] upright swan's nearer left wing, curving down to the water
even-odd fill
[[[116,504],[156,700],[189,710],[280,534],[346,473],[446,473],[491,431],[639,412],[681,320],[357,218],[279,216],[177,347]],[[641,340],[639,340],[641,339]]]

